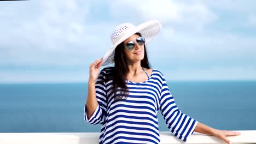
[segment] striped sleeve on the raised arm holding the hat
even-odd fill
[[[90,119],[87,117],[86,104],[84,106],[84,121],[90,124],[102,124],[105,121],[107,113],[105,79],[105,71],[101,70],[101,73],[98,75],[95,84],[96,99],[98,101],[98,105]]]

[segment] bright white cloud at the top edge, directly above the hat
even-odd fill
[[[124,17],[132,21],[158,19],[167,27],[182,27],[201,30],[214,22],[218,16],[207,5],[197,1],[118,1],[110,4],[114,17]],[[123,13],[120,13],[123,11]],[[132,17],[132,18],[131,18]]]

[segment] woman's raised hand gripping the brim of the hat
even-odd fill
[[[98,73],[100,72],[100,67],[102,64],[102,59],[97,59],[95,62],[90,64],[90,77],[89,81],[96,82],[96,79],[98,77]]]

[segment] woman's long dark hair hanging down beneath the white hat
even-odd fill
[[[140,33],[135,34],[141,36]],[[128,67],[124,53],[124,43],[119,44],[115,48],[114,62],[115,65],[112,73],[114,100],[123,100],[126,99],[129,95],[129,89],[125,84],[126,76],[128,73]],[[141,67],[150,69],[150,64],[148,61],[148,55],[145,45],[144,58],[141,60]]]

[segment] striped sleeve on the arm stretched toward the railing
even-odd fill
[[[181,110],[178,109],[163,75],[160,110],[168,129],[170,129],[170,131],[174,134],[174,136],[178,137],[178,139],[186,141],[187,137],[193,134],[197,121],[185,115],[181,112]]]

